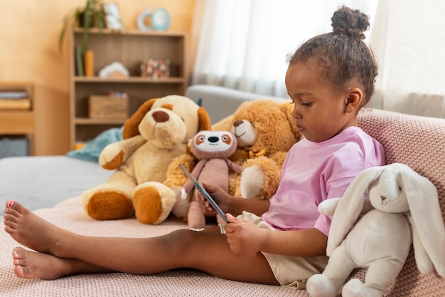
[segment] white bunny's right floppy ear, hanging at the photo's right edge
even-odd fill
[[[417,230],[437,273],[445,277],[445,226],[437,189],[429,179],[409,167],[401,172],[401,177],[414,224],[413,229]]]

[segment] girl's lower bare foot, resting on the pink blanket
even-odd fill
[[[26,251],[16,247],[12,251],[14,273],[19,278],[55,279],[70,274],[68,260],[59,259],[48,254]]]

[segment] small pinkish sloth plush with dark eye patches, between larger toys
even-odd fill
[[[237,149],[237,139],[229,131],[201,131],[193,137],[191,153],[199,160],[191,172],[198,182],[208,182],[229,191],[229,170],[242,172],[242,167],[228,158]],[[193,190],[188,206],[188,228],[200,230],[205,227],[205,213],[200,207],[198,190],[193,182],[187,179],[183,186],[181,199],[186,199]],[[223,218],[217,215],[218,224],[225,224]]]

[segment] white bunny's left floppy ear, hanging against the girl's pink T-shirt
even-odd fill
[[[360,172],[349,184],[332,217],[326,249],[328,256],[331,256],[332,251],[341,244],[341,241],[345,239],[346,234],[357,221],[365,202],[366,189],[380,177],[384,169],[384,166],[370,167]]]

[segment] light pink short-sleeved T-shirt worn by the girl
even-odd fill
[[[282,180],[262,219],[275,229],[315,227],[328,235],[331,217],[320,214],[318,204],[342,197],[358,173],[382,165],[382,145],[359,127],[348,127],[323,142],[300,140],[286,156]]]

